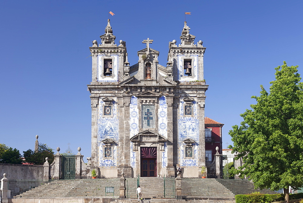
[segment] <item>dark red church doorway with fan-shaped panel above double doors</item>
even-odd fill
[[[141,147],[141,177],[157,177],[157,147]]]

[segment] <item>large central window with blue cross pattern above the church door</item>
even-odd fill
[[[142,128],[155,128],[155,105],[142,105]]]

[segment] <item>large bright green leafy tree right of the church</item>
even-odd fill
[[[253,180],[256,187],[278,190],[303,185],[303,85],[298,66],[286,62],[275,68],[275,81],[268,93],[261,85],[260,96],[252,96],[257,104],[241,114],[241,126],[229,132],[244,164],[237,171]]]

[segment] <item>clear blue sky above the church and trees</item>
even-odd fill
[[[186,21],[195,43],[207,47],[209,84],[205,115],[228,131],[255,103],[260,84],[268,90],[274,68],[303,67],[303,1],[0,1],[0,143],[20,152],[39,142],[63,153],[68,143],[91,156],[91,82],[88,47],[104,34],[108,12],[116,43],[126,41],[131,65],[142,40],[154,40],[166,66],[168,42],[180,43]],[[85,160],[86,161],[86,160]]]

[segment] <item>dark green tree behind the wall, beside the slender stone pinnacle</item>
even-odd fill
[[[39,143],[39,150],[35,153],[33,150],[28,149],[23,151],[25,161],[32,164],[43,165],[45,158],[48,157],[48,163],[54,161],[54,150],[48,147],[46,144]]]

